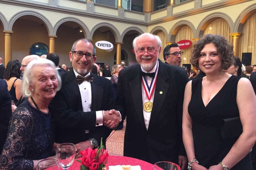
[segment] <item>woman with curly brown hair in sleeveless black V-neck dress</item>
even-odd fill
[[[194,45],[191,63],[206,76],[185,88],[182,135],[188,169],[252,169],[256,96],[248,79],[226,73],[233,56],[233,46],[219,35],[205,35]]]

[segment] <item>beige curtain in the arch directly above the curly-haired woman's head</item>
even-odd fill
[[[230,27],[228,25],[228,22],[223,18],[213,20],[204,30],[204,35],[206,34],[222,35],[229,41],[230,44],[232,44],[232,36],[230,36],[229,33],[230,33]]]

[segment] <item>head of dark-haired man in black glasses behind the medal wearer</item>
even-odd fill
[[[183,52],[177,43],[172,43],[165,47],[163,50],[163,59],[166,60],[166,64],[180,66],[181,65],[181,56]]]

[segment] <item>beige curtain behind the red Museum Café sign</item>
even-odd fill
[[[193,31],[189,26],[183,26],[181,29],[177,32],[175,42],[181,41],[183,39],[188,39],[192,42],[192,45],[189,48],[181,49],[183,52],[183,55],[181,56],[181,67],[182,64],[190,64],[190,58],[191,58],[191,50],[194,46],[193,39]],[[192,65],[191,65],[191,69]]]

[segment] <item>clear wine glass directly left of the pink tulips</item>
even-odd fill
[[[68,169],[75,159],[75,145],[72,143],[59,144],[56,149],[56,158],[63,169]]]

